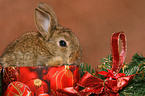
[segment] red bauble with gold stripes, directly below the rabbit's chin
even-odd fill
[[[53,94],[57,94],[55,91],[58,89],[74,86],[78,79],[79,70],[77,65],[52,67],[49,72],[43,76],[43,80],[50,81],[50,88]]]

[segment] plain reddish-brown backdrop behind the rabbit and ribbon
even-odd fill
[[[82,60],[94,67],[111,54],[113,32],[127,35],[126,62],[136,52],[145,55],[145,0],[0,0],[0,55],[20,35],[36,31],[38,2],[50,5],[60,25],[72,29],[83,48]]]

